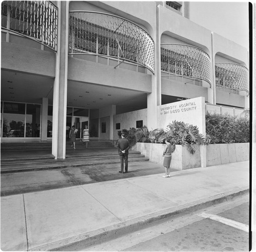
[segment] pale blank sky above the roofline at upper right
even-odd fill
[[[249,48],[248,2],[190,2],[190,20]]]

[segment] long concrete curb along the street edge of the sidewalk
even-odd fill
[[[127,233],[135,232],[150,224],[156,224],[158,221],[164,221],[166,218],[179,217],[191,212],[199,211],[224,201],[249,193],[249,188],[244,187],[237,190],[221,193],[206,199],[194,201],[183,206],[170,208],[154,214],[142,216],[119,224],[108,226],[96,231],[70,237],[65,240],[56,241],[39,247],[28,249],[28,251],[76,251],[84,247],[100,242],[105,242],[113,238],[123,236]]]

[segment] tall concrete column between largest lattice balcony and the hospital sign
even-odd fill
[[[157,7],[157,29],[153,36],[155,41],[155,74],[152,74],[152,92],[147,95],[147,128],[157,129],[157,106],[161,105],[161,34],[159,34],[159,7]]]

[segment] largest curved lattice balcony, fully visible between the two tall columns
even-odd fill
[[[71,55],[89,54],[118,58],[154,73],[154,41],[136,23],[111,14],[70,12]]]

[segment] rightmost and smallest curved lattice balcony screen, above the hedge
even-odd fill
[[[249,95],[249,71],[234,63],[215,63],[216,88],[244,90]]]

